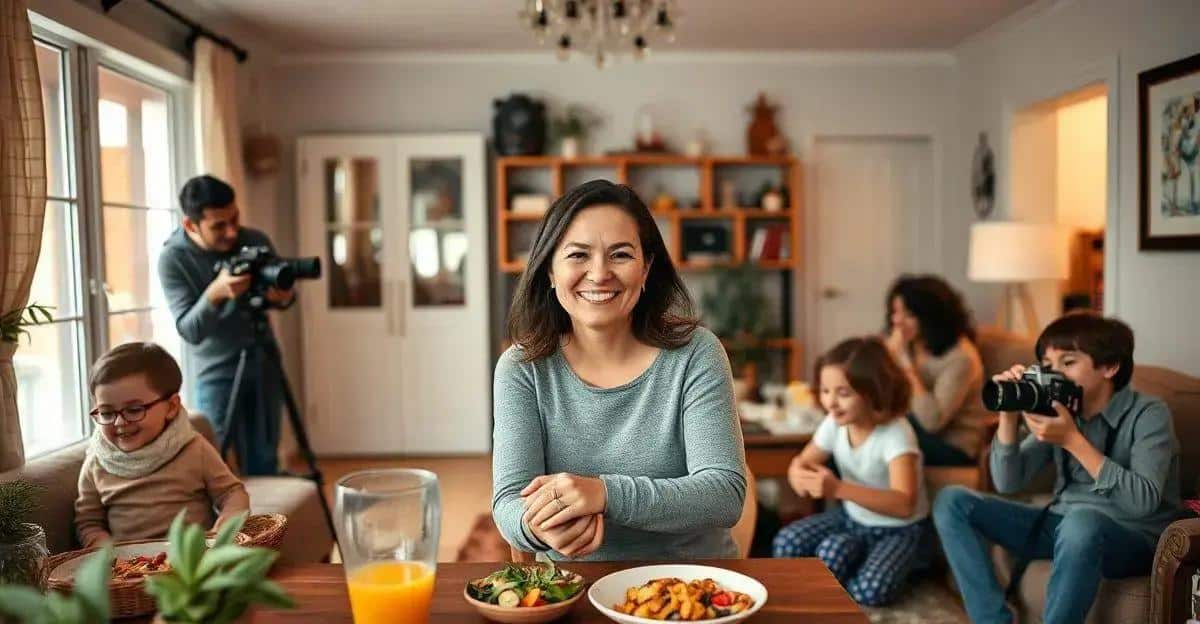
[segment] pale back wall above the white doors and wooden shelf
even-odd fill
[[[581,61],[558,64],[548,52],[359,55],[284,60],[265,106],[289,163],[295,137],[312,132],[472,130],[490,137],[492,101],[511,92],[545,98],[552,113],[572,103],[602,116],[587,145],[592,152],[630,148],[646,107],[677,149],[702,128],[713,152],[744,154],[746,107],[763,90],[781,107],[780,128],[803,158],[814,137],[830,134],[928,136],[941,150],[954,132],[953,78],[948,54],[662,54],[602,71]],[[940,167],[935,154],[935,172]],[[290,181],[280,193],[281,226],[290,220],[294,227]],[[932,269],[938,258],[926,256],[924,268]],[[506,302],[497,295],[492,307],[498,329]],[[803,326],[798,313],[793,328]]]

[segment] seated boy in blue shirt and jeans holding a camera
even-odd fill
[[[1008,594],[1030,560],[1051,559],[1046,624],[1082,623],[1102,577],[1150,572],[1159,534],[1180,517],[1180,445],[1166,404],[1129,388],[1133,346],[1128,325],[1094,313],[1067,314],[1038,337],[1043,370],[1052,368],[1078,385],[1060,384],[1081,401],[1070,401],[1076,403],[1073,409],[1042,401],[1037,412],[1052,415],[1001,412],[990,461],[1002,494],[1022,490],[1054,462],[1050,505],[1025,505],[964,487],[938,494],[934,522],[971,622],[1014,620],[992,572],[990,544],[1016,560]],[[1019,382],[1025,372],[1016,365],[991,379]],[[997,388],[992,385],[992,397]],[[1022,421],[1028,428],[1024,438],[1018,432]]]

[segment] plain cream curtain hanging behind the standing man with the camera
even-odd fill
[[[238,193],[242,222],[254,222],[246,202],[241,127],[238,125],[238,59],[208,37],[193,49],[192,90],[196,110],[196,163]]]

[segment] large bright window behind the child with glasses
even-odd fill
[[[88,366],[110,347],[155,341],[185,364],[157,275],[179,224],[180,88],[101,65],[98,50],[49,34],[36,53],[48,198],[30,302],[53,306],[54,322],[30,328],[13,358],[26,457],[88,434]]]

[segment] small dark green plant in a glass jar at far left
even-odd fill
[[[46,532],[29,521],[43,490],[19,479],[0,484],[0,584],[44,586]]]

